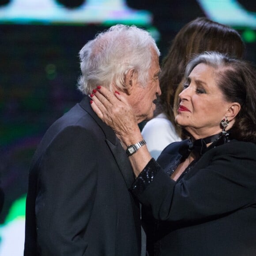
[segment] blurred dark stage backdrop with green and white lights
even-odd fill
[[[177,32],[207,16],[232,26],[256,63],[252,0],[0,0],[0,256],[23,255],[28,170],[46,129],[82,99],[78,52],[101,30],[135,24],[162,56]]]

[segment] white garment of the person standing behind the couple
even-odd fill
[[[147,142],[148,151],[155,160],[170,143],[181,141],[173,124],[164,113],[149,120],[141,133]]]

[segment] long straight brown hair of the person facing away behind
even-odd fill
[[[192,54],[217,51],[241,58],[244,50],[245,45],[239,33],[229,26],[207,18],[197,18],[186,24],[173,39],[169,52],[162,61],[162,72],[159,76],[162,95],[155,115],[163,112],[174,124],[175,92]]]

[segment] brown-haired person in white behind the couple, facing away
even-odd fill
[[[217,51],[241,58],[244,49],[244,43],[236,30],[207,18],[194,19],[178,32],[162,62],[159,76],[162,95],[155,117],[142,130],[152,157],[157,159],[169,143],[184,139],[180,127],[174,122],[175,109],[183,86],[181,80],[184,70],[193,54]]]

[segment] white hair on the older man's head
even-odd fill
[[[115,25],[97,34],[79,52],[82,75],[78,89],[90,94],[98,85],[125,90],[124,77],[134,69],[142,87],[148,82],[152,49],[160,56],[151,35],[136,26]]]

